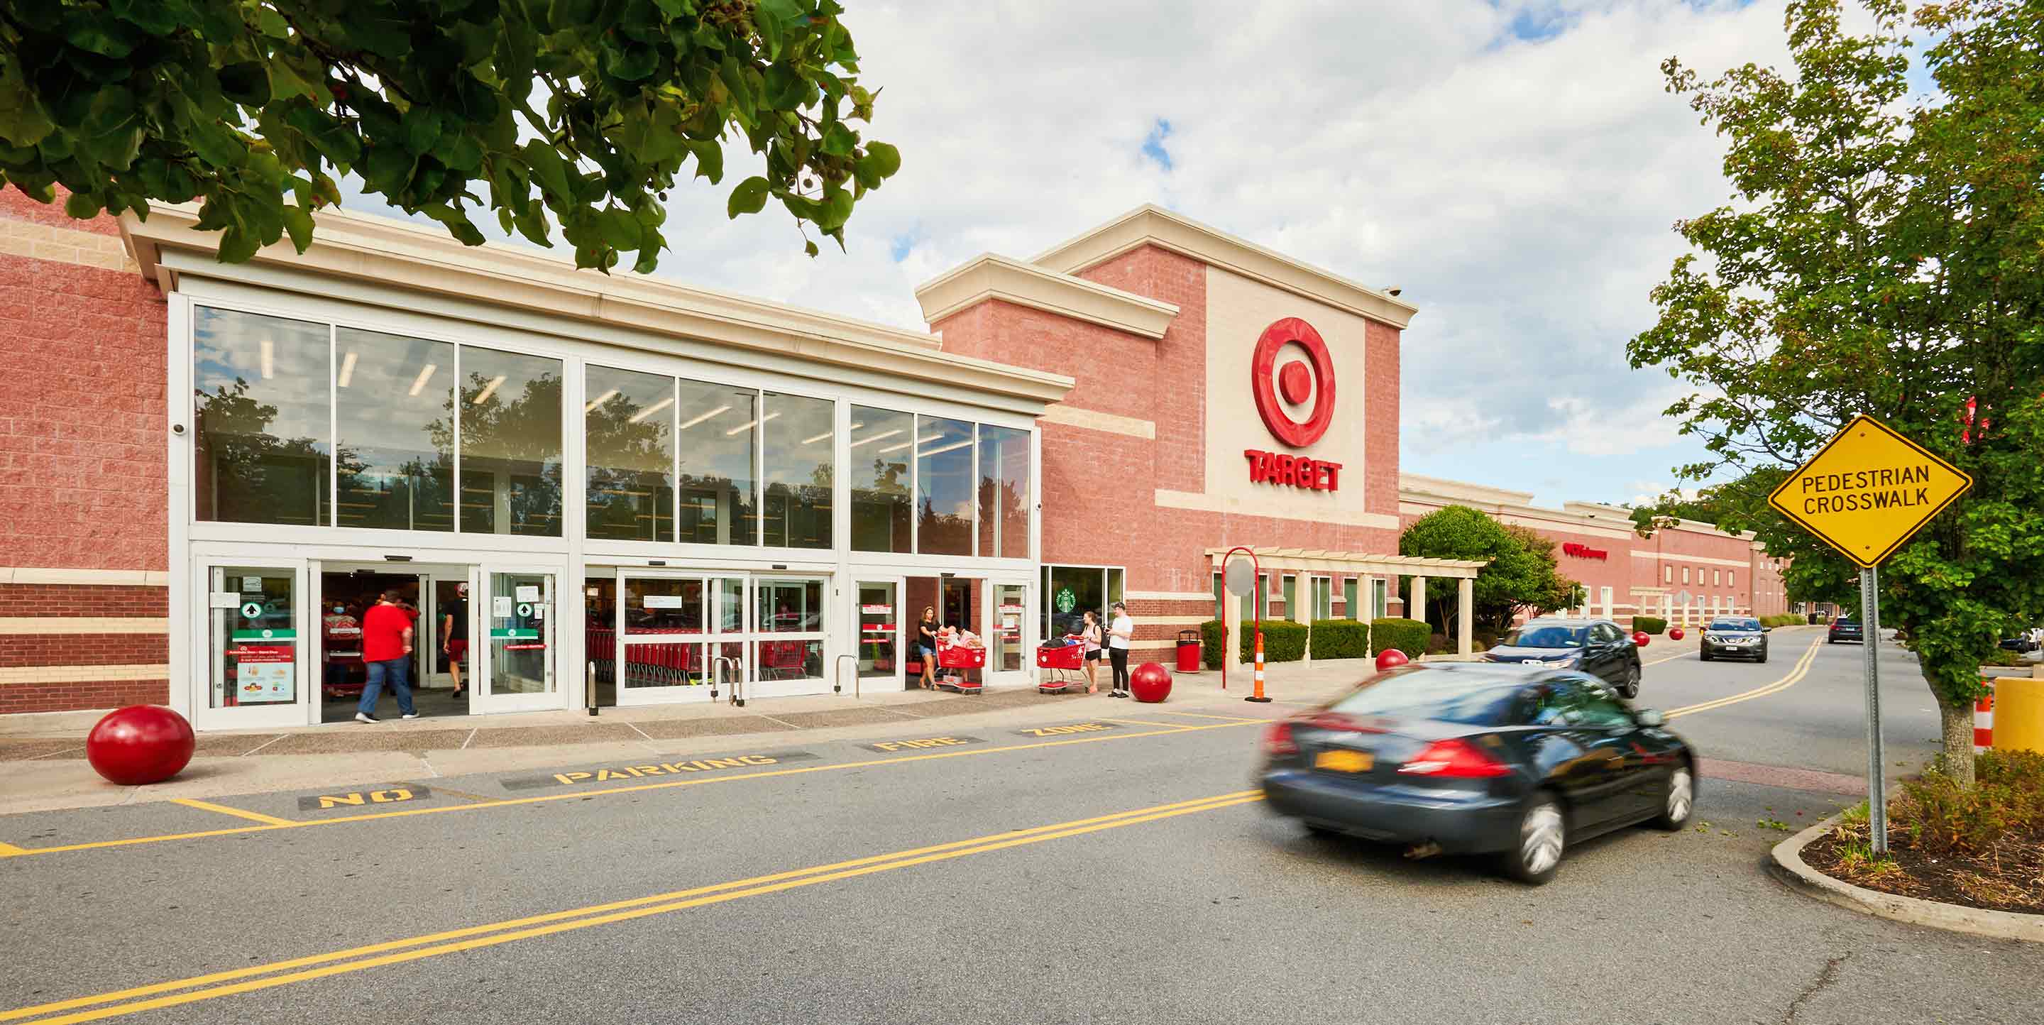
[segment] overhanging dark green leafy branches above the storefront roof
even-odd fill
[[[836,0],[0,0],[0,188],[65,213],[204,200],[243,262],[356,176],[468,246],[503,231],[650,272],[666,190],[738,139],[816,256],[901,166]]]

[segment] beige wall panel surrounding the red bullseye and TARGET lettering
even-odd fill
[[[1384,526],[1378,522],[1384,518],[1367,514],[1363,501],[1363,440],[1369,434],[1369,409],[1363,401],[1363,329],[1367,321],[1214,266],[1206,268],[1206,297],[1208,501],[1290,520]],[[1320,331],[1335,362],[1335,419],[1327,434],[1308,448],[1290,448],[1271,438],[1269,430],[1263,428],[1263,417],[1257,415],[1249,383],[1257,338],[1284,317],[1300,317]],[[1275,370],[1282,372],[1288,362],[1304,362],[1304,350],[1298,346],[1280,350]],[[1304,421],[1312,415],[1318,389],[1320,383],[1314,381],[1314,393],[1306,397],[1304,405],[1286,405],[1292,419]],[[1282,397],[1278,401],[1284,405]],[[1396,426],[1388,430],[1396,430]],[[1308,491],[1249,483],[1249,460],[1243,458],[1247,448],[1341,462],[1341,489]]]

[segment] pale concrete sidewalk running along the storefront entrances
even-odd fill
[[[981,696],[889,692],[852,698],[758,698],[746,708],[717,704],[448,716],[376,724],[329,722],[294,730],[202,732],[192,763],[155,786],[114,786],[86,763],[84,734],[102,712],[16,716],[0,724],[0,814],[141,804],[227,794],[347,788],[392,779],[550,767],[578,761],[644,761],[648,755],[814,745],[844,739],[899,739],[969,732],[995,722],[1143,720],[1157,710],[1271,718],[1353,687],[1374,671],[1367,659],[1273,665],[1273,704],[1245,704],[1251,681],[1220,673],[1175,675],[1161,706],[1100,696],[1038,694],[1036,687]],[[1190,720],[1186,722],[1190,724]]]

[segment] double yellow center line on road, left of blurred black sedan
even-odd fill
[[[705,904],[722,904],[726,900],[738,900],[746,896],[764,896],[781,890],[795,890],[801,886],[816,886],[822,882],[850,880],[856,876],[871,876],[877,872],[889,872],[897,867],[926,865],[932,861],[946,861],[953,857],[967,857],[977,853],[1004,851],[1008,847],[1024,847],[1032,843],[1044,843],[1053,839],[1079,837],[1085,833],[1100,833],[1106,829],[1120,829],[1139,822],[1155,822],[1159,818],[1173,818],[1179,814],[1210,812],[1220,808],[1233,808],[1237,804],[1249,804],[1263,800],[1263,794],[1255,790],[1241,790],[1235,794],[1216,794],[1208,798],[1183,800],[1175,804],[1159,804],[1153,808],[1136,808],[1128,812],[1114,812],[1094,818],[1079,818],[1071,822],[1057,822],[1049,827],[1032,827],[1010,833],[993,833],[987,837],[975,837],[969,841],[940,843],[934,847],[918,847],[910,851],[893,851],[873,857],[861,857],[852,861],[836,861],[830,865],[814,865],[805,870],[781,872],[773,876],[756,876],[750,880],[736,880],[715,886],[701,886],[695,890],[677,890],[670,894],[642,896],[634,900],[619,900],[611,904],[593,904],[587,908],[558,910],[550,915],[536,915],[527,919],[513,919],[493,925],[476,925],[468,929],[454,929],[448,933],[433,933],[411,939],[394,939],[388,943],[374,943],[366,947],[352,947],[345,951],[321,953],[311,957],[294,957],[288,962],[274,962],[266,966],[237,968],[231,972],[215,972],[208,976],[194,976],[174,982],[157,982],[151,986],[137,986],[129,990],[102,992],[96,996],[78,996],[72,1000],[57,1000],[47,1005],[22,1007],[14,1011],[0,1013],[0,1021],[20,1021],[39,1015],[55,1015],[63,1011],[78,1011],[63,1017],[45,1017],[35,1025],[63,1025],[80,1021],[102,1021],[121,1015],[133,1015],[137,1011],[155,1011],[164,1007],[180,1007],[198,1000],[215,1000],[221,996],[233,996],[239,992],[266,990],[274,986],[288,986],[292,982],[307,982],[315,978],[327,978],[347,972],[364,972],[370,968],[382,968],[390,964],[417,962],[423,957],[435,957],[442,953],[458,953],[478,947],[493,947],[499,943],[511,943],[517,939],[533,939],[554,933],[566,933],[574,929],[589,929],[597,925],[613,925],[632,919],[644,919],[652,915],[666,915],[685,908],[697,908]],[[407,949],[411,947],[411,949]],[[317,966],[317,968],[315,968]],[[288,972],[300,968],[298,972]],[[272,972],[288,972],[276,976]],[[268,976],[268,978],[253,978]],[[237,982],[239,980],[239,982]],[[186,990],[186,992],[176,992]],[[157,996],[164,994],[164,996]],[[127,1000],[127,1002],[123,1002]],[[94,1011],[80,1011],[94,1005],[114,1005],[98,1007]]]

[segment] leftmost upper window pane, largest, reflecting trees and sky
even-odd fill
[[[192,346],[198,520],[329,524],[327,325],[198,307]]]

